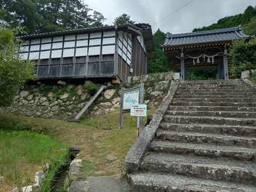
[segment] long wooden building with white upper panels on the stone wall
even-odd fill
[[[147,74],[156,52],[151,26],[125,24],[22,36],[20,54],[35,60],[38,80],[126,81]]]

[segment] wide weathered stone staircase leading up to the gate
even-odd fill
[[[256,93],[240,80],[179,84],[131,191],[256,191]]]

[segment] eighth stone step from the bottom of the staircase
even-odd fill
[[[232,106],[232,107],[251,107],[256,108],[255,102],[175,102],[171,106]]]

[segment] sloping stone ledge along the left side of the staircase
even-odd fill
[[[142,157],[147,152],[148,146],[154,139],[156,130],[159,127],[159,124],[163,119],[163,115],[168,108],[168,105],[170,104],[177,88],[178,85],[175,85],[175,87],[168,92],[166,97],[163,99],[163,102],[161,102],[159,109],[157,109],[155,115],[150,121],[150,124],[143,129],[139,138],[135,141],[134,145],[132,145],[131,149],[129,150],[127,156],[125,157],[127,173],[133,173],[140,169]]]

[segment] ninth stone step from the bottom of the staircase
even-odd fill
[[[204,97],[204,95],[202,95]],[[173,98],[173,102],[256,102],[255,98]]]

